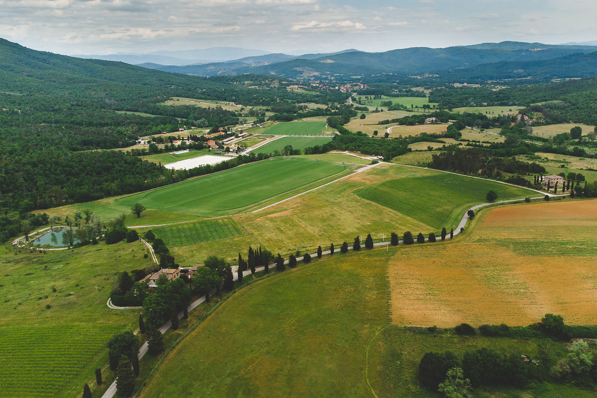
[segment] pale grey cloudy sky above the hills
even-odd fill
[[[595,0],[0,0],[0,37],[60,54],[273,53],[597,39]]]

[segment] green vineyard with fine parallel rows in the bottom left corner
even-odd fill
[[[1,327],[1,394],[55,396],[115,331],[101,323]]]

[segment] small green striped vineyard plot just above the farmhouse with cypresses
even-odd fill
[[[227,237],[241,236],[241,226],[232,218],[204,220],[196,223],[177,224],[154,228],[152,232],[164,240],[167,246],[188,246]]]

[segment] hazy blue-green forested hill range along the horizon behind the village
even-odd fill
[[[552,75],[552,78],[563,78],[578,77],[574,70],[579,73],[582,72],[580,73],[582,76],[587,74],[595,75],[595,72],[590,69],[592,57],[565,58],[569,55],[586,54],[595,50],[595,47],[590,45],[550,45],[504,41],[447,48],[413,47],[384,53],[344,50],[338,53],[303,54],[299,56],[267,54],[226,62],[187,66],[165,66],[159,63],[144,63],[140,66],[196,76],[256,73],[306,81],[346,81],[359,77],[368,79],[377,75],[398,75],[404,78],[405,76],[417,76],[425,73],[437,74],[438,71],[442,71],[439,73],[440,75],[469,79],[467,72],[455,71],[493,64],[491,67],[476,69],[475,76],[490,75],[491,70],[493,70],[498,76],[507,76],[496,77],[495,79],[511,79],[516,78],[516,76],[528,77],[535,72],[541,75],[541,78]],[[561,59],[557,65],[552,67],[547,60],[556,58]],[[577,64],[572,69],[566,70],[565,64],[567,62],[576,61],[587,62],[588,64]],[[516,64],[532,62],[535,63]],[[550,70],[550,68],[553,70]],[[556,68],[557,70],[555,70]],[[528,76],[522,76],[525,74],[524,71],[527,72]],[[531,73],[531,71],[535,72]]]

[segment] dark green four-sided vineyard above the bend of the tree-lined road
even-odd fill
[[[497,193],[497,200],[534,194],[522,187],[448,173],[384,181],[355,193],[439,230],[455,226],[467,206],[486,202],[489,190]]]

